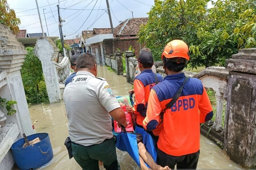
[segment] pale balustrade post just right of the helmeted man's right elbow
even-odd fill
[[[223,93],[222,92],[216,92],[215,93],[216,98],[216,117],[214,120],[214,123],[212,125],[212,129],[216,131],[222,131],[222,115],[223,115]]]

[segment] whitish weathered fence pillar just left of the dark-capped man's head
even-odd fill
[[[125,63],[126,63],[126,81],[128,83],[133,83],[133,77],[134,77],[134,61],[136,58],[134,57],[135,53],[132,51],[127,51],[125,53]]]

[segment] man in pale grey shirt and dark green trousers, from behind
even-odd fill
[[[93,55],[80,55],[75,70],[76,76],[63,92],[72,155],[84,170],[99,170],[99,161],[105,169],[117,170],[111,116],[126,127],[125,113],[107,81],[96,77]]]

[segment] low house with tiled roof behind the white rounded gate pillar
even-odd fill
[[[28,33],[27,30],[20,30],[16,34],[16,38],[19,40],[19,42],[22,43],[25,47],[34,47],[36,44],[36,40],[38,37],[41,37],[42,33]],[[44,36],[47,36],[46,33],[44,33]],[[49,37],[52,41],[56,41],[59,37]]]

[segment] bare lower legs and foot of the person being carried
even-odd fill
[[[149,170],[150,168],[153,170],[168,170],[170,169],[168,166],[162,167],[160,165],[157,165],[154,161],[154,159],[152,158],[152,156],[148,153],[145,145],[142,142],[138,143],[138,148],[139,148],[139,155],[140,155],[140,167],[142,170]],[[150,168],[148,168],[144,162],[146,162],[148,164],[148,166],[150,166]]]

